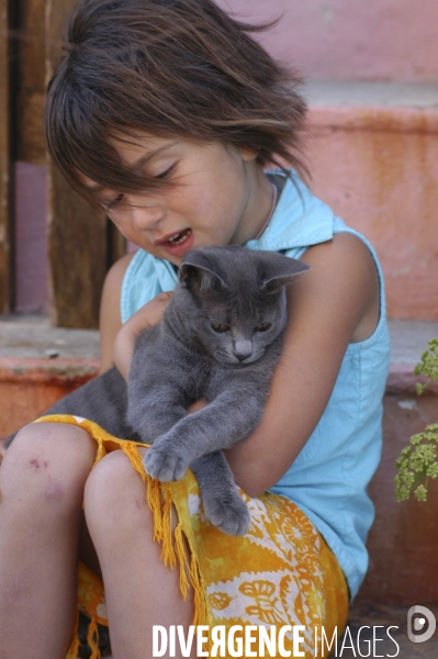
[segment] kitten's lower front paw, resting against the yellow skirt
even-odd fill
[[[205,516],[221,530],[228,535],[245,535],[249,528],[248,506],[237,492],[226,496],[203,496]]]

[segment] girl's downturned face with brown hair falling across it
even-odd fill
[[[125,194],[86,179],[125,238],[154,256],[178,265],[189,249],[243,245],[263,226],[272,187],[254,152],[147,134],[113,144],[126,167],[171,183]]]

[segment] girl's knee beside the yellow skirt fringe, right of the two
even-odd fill
[[[90,530],[96,524],[116,527],[147,523],[146,483],[121,450],[105,456],[90,473],[83,506]]]

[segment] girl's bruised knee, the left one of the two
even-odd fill
[[[71,496],[83,490],[96,456],[96,444],[82,428],[36,423],[22,428],[1,463],[2,493],[38,492],[50,499],[55,490]]]

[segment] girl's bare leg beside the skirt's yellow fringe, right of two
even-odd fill
[[[146,485],[122,451],[108,455],[91,472],[85,511],[105,584],[114,659],[151,657],[153,625],[183,625],[187,637],[192,596],[182,599],[179,567],[169,570],[160,560]],[[182,657],[178,649],[177,643]]]

